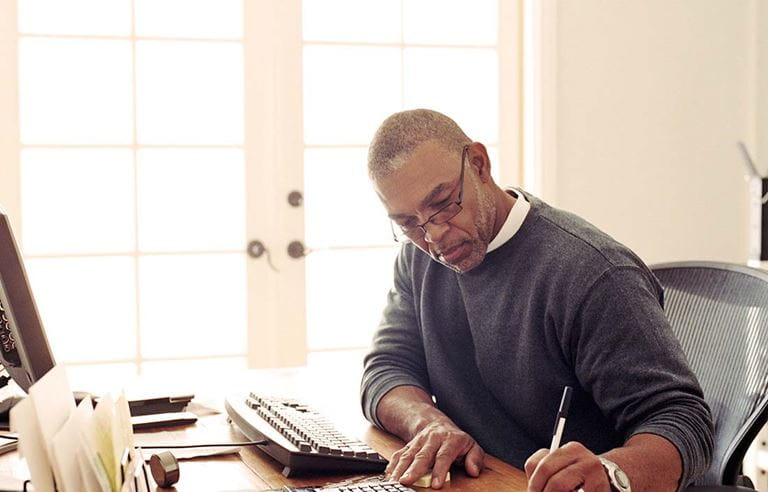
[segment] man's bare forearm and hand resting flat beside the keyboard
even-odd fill
[[[483,448],[435,408],[421,388],[392,389],[379,402],[377,415],[384,428],[408,441],[390,458],[386,474],[392,480],[412,485],[431,470],[432,488],[439,489],[453,463],[463,463],[471,477],[483,470]]]

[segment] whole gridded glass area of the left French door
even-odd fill
[[[20,239],[76,373],[245,367],[242,25],[240,1],[18,3]]]

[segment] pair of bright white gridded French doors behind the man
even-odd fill
[[[396,254],[365,166],[392,112],[445,112],[518,181],[518,2],[8,5],[0,204],[83,388],[359,360]]]

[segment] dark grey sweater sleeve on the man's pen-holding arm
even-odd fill
[[[581,304],[564,350],[582,386],[625,439],[651,433],[679,451],[683,488],[709,466],[713,424],[664,315],[661,287],[639,267],[604,273]]]

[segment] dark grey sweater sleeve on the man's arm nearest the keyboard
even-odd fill
[[[363,413],[378,427],[382,425],[376,417],[376,407],[393,388],[418,386],[431,394],[408,266],[412,249],[413,246],[406,245],[400,250],[394,286],[364,362],[360,386]]]

